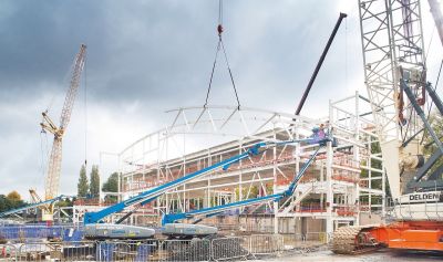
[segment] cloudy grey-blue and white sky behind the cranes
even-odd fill
[[[433,21],[427,2],[422,4],[427,46]],[[224,42],[244,106],[292,113],[340,11],[349,18],[303,115],[323,116],[329,99],[364,92],[357,1],[224,6]],[[101,151],[120,151],[164,127],[171,122],[166,109],[204,104],[217,20],[215,0],[0,1],[0,193],[19,190],[28,199],[29,188],[43,192],[52,137],[40,133],[40,114],[49,109],[59,123],[81,43],[87,45],[86,66],[63,142],[66,195],[76,192],[85,158],[99,164]],[[429,52],[433,81],[442,59],[436,32]],[[209,104],[235,104],[224,67],[216,71],[213,91]],[[114,159],[102,156],[110,171]]]

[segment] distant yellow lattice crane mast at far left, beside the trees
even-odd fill
[[[49,158],[48,175],[44,182],[44,199],[50,200],[59,195],[60,174],[62,164],[62,139],[71,119],[72,108],[74,106],[75,96],[80,86],[80,76],[84,67],[86,54],[86,45],[82,44],[80,51],[74,59],[72,65],[72,77],[66,97],[64,99],[62,113],[60,116],[60,126],[58,127],[49,117],[48,112],[43,112],[43,122],[40,123],[44,130],[54,135],[52,150]],[[53,207],[51,206],[47,213],[43,214],[43,220],[52,220]]]

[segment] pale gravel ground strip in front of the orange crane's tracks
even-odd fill
[[[378,250],[371,253],[358,254],[358,255],[338,255],[333,254],[331,251],[315,251],[311,253],[286,253],[279,258],[272,259],[261,259],[256,261],[279,261],[279,262],[403,262],[403,261],[414,261],[414,262],[435,262],[443,261],[442,253],[432,252],[395,252],[391,250]]]

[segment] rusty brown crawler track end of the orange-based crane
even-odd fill
[[[377,241],[362,232],[367,228],[373,228],[373,226],[351,226],[337,229],[332,234],[332,252],[336,254],[359,254],[379,249],[380,245]]]

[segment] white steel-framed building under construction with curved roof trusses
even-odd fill
[[[237,232],[295,233],[321,238],[342,224],[384,216],[384,176],[370,105],[360,94],[331,102],[322,119],[238,107],[187,107],[171,111],[173,123],[117,154],[120,200],[241,154],[262,140],[308,137],[316,126],[333,130],[337,147],[326,147],[302,177],[292,199],[226,211],[203,221]],[[208,145],[210,145],[208,147]],[[240,160],[169,190],[138,208],[126,223],[159,226],[162,214],[188,212],[282,191],[312,154],[313,145],[287,145]],[[106,192],[103,192],[104,195]],[[84,211],[74,207],[74,221]],[[110,218],[116,221],[121,214]]]

